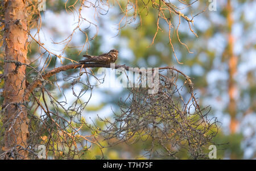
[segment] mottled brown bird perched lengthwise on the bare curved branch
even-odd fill
[[[100,63],[100,64],[110,64],[115,62],[118,58],[118,51],[116,49],[112,49],[108,53],[103,53],[102,55],[98,56],[91,56],[91,55],[83,55],[87,59],[79,61],[80,64],[84,64],[87,62],[93,63]]]

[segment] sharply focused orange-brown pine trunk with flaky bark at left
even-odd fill
[[[5,0],[5,151],[15,151],[27,159],[28,124],[23,95],[26,89],[27,20],[26,1]],[[12,61],[12,62],[11,62]],[[15,64],[16,61],[16,64]],[[19,63],[20,62],[20,63]]]

